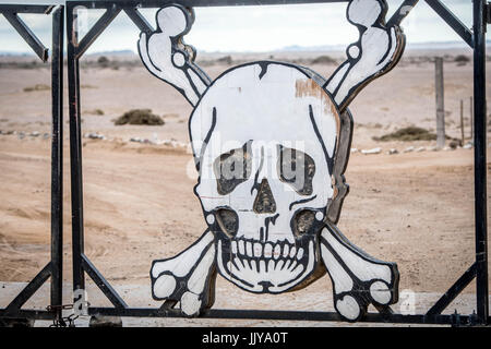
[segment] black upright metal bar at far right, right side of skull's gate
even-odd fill
[[[486,20],[484,0],[474,0],[474,166],[476,196],[477,320],[488,323],[488,207],[486,165]]]

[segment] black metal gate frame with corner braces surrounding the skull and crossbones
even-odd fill
[[[89,315],[183,317],[173,309],[175,302],[165,302],[161,308],[130,308],[111,285],[84,254],[83,221],[83,179],[80,108],[80,69],[79,60],[94,40],[111,21],[125,12],[142,31],[151,32],[152,26],[137,11],[139,8],[160,8],[169,3],[184,7],[259,5],[289,3],[348,2],[349,0],[148,0],[148,1],[68,1],[68,67],[70,105],[70,159],[72,193],[72,253],[73,290],[85,289],[85,273],[95,281],[113,308],[88,306]],[[405,0],[388,21],[400,22],[418,0]],[[369,313],[361,322],[408,323],[408,324],[447,324],[447,325],[488,325],[490,324],[488,301],[488,237],[487,237],[487,165],[486,165],[486,25],[489,21],[489,5],[484,0],[474,0],[474,31],[467,28],[440,0],[426,2],[474,49],[475,81],[475,208],[476,208],[476,261],[467,272],[445,292],[426,313],[417,315],[395,314],[391,309],[381,313]],[[81,41],[74,29],[76,7],[105,9],[105,14],[94,24]],[[409,8],[409,9],[410,9]],[[476,278],[477,312],[471,315],[442,314],[443,310]],[[79,299],[80,300],[80,299]],[[301,321],[342,321],[335,312],[306,311],[264,311],[264,310],[221,310],[204,311],[204,318],[261,318],[261,320],[301,320]]]

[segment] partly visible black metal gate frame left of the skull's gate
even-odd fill
[[[0,4],[2,14],[39,59],[48,60],[48,49],[20,19],[19,13],[50,14],[52,19],[51,55],[51,258],[50,262],[24,287],[5,309],[0,309],[0,322],[19,320],[61,320],[63,282],[63,5]],[[22,306],[48,278],[50,305],[46,310],[23,310]]]

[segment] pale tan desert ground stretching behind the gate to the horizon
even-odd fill
[[[300,58],[291,55],[232,55],[231,65],[255,59],[304,59],[307,53]],[[321,53],[309,55],[315,58]],[[416,292],[444,292],[474,262],[474,152],[462,147],[433,152],[434,141],[378,142],[373,137],[408,125],[434,132],[431,57],[435,55],[446,55],[446,133],[460,137],[459,101],[464,99],[469,141],[471,64],[455,62],[452,51],[407,52],[398,67],[370,84],[350,106],[355,119],[352,148],[358,152],[350,155],[346,171],[350,193],[338,225],[369,254],[396,262],[400,290]],[[230,67],[223,61],[209,63],[216,58],[202,58],[212,77]],[[149,293],[152,261],[177,254],[205,229],[200,202],[193,194],[192,155],[184,146],[191,107],[139,63],[113,69],[89,64],[91,60],[97,57],[82,64],[82,130],[104,139],[83,139],[85,252],[115,286],[137,287],[137,294],[143,294],[139,301],[155,304]],[[336,67],[309,65],[324,76]],[[0,69],[1,281],[27,281],[49,260],[50,92],[24,91],[49,84],[49,74],[47,68]],[[490,87],[488,83],[488,94]],[[113,125],[115,118],[134,108],[152,109],[163,116],[165,124]],[[97,115],[97,109],[104,115]],[[71,282],[67,101],[64,113],[64,278]],[[147,139],[148,143],[131,142],[132,137]],[[151,143],[156,140],[167,142]],[[410,146],[421,152],[404,153]],[[374,147],[381,147],[381,153],[359,152]],[[391,148],[398,154],[388,155]],[[235,294],[246,294],[218,278],[217,299],[232,289]],[[314,304],[323,292],[332,292],[328,277],[300,291],[301,297],[287,299],[301,298],[301,304]],[[466,292],[474,292],[474,286]],[[282,297],[274,298],[277,306],[285,304]],[[244,300],[244,308],[262,304],[250,294]],[[286,303],[283,308],[288,306]]]

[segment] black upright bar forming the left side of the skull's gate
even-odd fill
[[[80,115],[80,81],[79,59],[75,57],[77,33],[74,8],[67,5],[67,37],[68,37],[68,81],[70,110],[70,176],[72,194],[72,264],[73,290],[85,289],[82,253],[84,252],[84,221],[83,221],[83,183],[82,183],[82,143]]]

